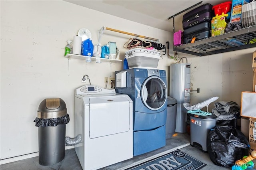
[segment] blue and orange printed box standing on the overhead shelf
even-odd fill
[[[249,3],[250,0],[232,0],[230,23],[241,22],[242,5]]]

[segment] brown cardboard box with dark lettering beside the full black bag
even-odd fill
[[[253,150],[256,150],[256,119],[250,118],[250,132],[249,132],[249,143],[250,143],[250,148],[249,148],[249,155]],[[252,160],[254,164],[256,163],[256,160]],[[254,169],[256,167],[254,166]]]

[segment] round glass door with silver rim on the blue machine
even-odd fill
[[[141,87],[143,104],[153,111],[161,109],[167,99],[166,85],[158,76],[148,77]]]

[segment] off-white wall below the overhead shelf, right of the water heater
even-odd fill
[[[204,57],[188,57],[191,63],[191,89],[200,88],[200,93],[191,93],[191,104],[218,96],[217,101],[234,101],[240,105],[241,92],[252,91],[252,53],[255,50],[250,48]],[[208,111],[212,111],[214,103],[209,105]],[[206,111],[206,107],[202,110]]]

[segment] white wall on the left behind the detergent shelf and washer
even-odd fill
[[[78,30],[90,30],[94,44],[98,42],[102,26],[155,37],[163,44],[171,40],[169,32],[65,1],[0,3],[1,164],[4,160],[22,159],[19,156],[38,152],[38,127],[33,121],[42,100],[60,97],[65,101],[70,115],[66,136],[73,138],[74,91],[89,84],[89,81],[82,83],[81,76],[87,74],[92,84],[104,88],[104,77],[114,77],[114,72],[122,69],[122,62],[98,64],[70,59],[68,64],[64,48]],[[100,43],[116,42],[123,59],[127,51],[123,45],[129,38],[129,35],[105,30]],[[167,70],[168,62],[163,55],[158,69]]]

